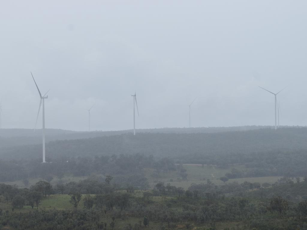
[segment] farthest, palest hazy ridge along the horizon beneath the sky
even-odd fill
[[[229,132],[253,130],[259,128],[268,128],[265,126],[240,126],[240,127],[209,127],[209,128],[154,128],[140,129],[137,132],[150,133],[214,133],[214,132]],[[13,147],[19,145],[40,144],[42,130],[37,129],[0,129],[0,148]],[[46,129],[46,142],[54,140],[74,140],[86,139],[100,136],[120,135],[131,133],[132,130],[120,131],[92,131],[92,132],[77,132],[63,129]]]

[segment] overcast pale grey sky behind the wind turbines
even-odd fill
[[[307,125],[306,1],[2,1],[3,127]],[[41,128],[41,114],[38,121]]]

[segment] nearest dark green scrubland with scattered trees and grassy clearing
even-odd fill
[[[210,180],[188,190],[157,183],[119,189],[84,180],[29,189],[0,184],[1,229],[305,229],[307,178],[270,185]],[[292,194],[289,196],[289,191]]]

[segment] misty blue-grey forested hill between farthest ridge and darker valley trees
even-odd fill
[[[266,128],[217,133],[131,133],[79,140],[57,140],[46,145],[47,160],[78,156],[143,153],[171,157],[184,163],[253,162],[260,156],[293,152],[305,155],[307,128]],[[273,154],[274,153],[274,154]],[[0,149],[1,159],[41,157],[41,145]]]

